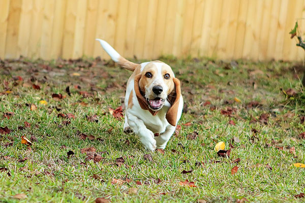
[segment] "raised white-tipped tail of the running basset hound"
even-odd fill
[[[138,64],[133,63],[124,57],[121,57],[117,51],[115,51],[106,41],[101,39],[96,39],[99,41],[103,47],[103,49],[107,52],[107,54],[111,57],[111,59],[114,62],[117,62],[120,66],[124,67],[124,69],[127,69],[129,71],[134,71],[136,69],[136,66]]]

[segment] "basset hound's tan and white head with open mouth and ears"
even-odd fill
[[[141,108],[149,110],[153,115],[162,109],[168,100],[171,107],[166,118],[171,125],[176,125],[176,115],[172,114],[177,114],[180,82],[169,65],[161,61],[147,63],[135,77],[135,91]]]

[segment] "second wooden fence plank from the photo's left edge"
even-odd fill
[[[8,26],[7,26],[7,37],[6,37],[6,58],[16,58],[17,56],[17,42],[19,35],[19,21],[21,11],[21,0],[14,0],[10,2]]]

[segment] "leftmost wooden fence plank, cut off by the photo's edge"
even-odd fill
[[[0,12],[0,58],[5,56],[5,43],[7,37],[8,16],[10,9],[10,0],[3,0]]]

